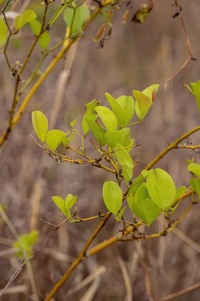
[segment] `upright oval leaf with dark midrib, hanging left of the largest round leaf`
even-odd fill
[[[103,184],[103,200],[107,209],[116,214],[121,208],[122,192],[115,182],[105,182]]]

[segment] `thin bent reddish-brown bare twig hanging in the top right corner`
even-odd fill
[[[187,45],[189,57],[185,60],[185,62],[180,67],[180,69],[173,76],[171,76],[170,78],[168,78],[165,81],[165,84],[167,84],[168,82],[173,80],[176,76],[178,76],[180,74],[180,72],[185,68],[185,66],[190,62],[190,60],[196,61],[196,59],[192,56],[192,53],[191,53],[189,38],[188,38],[188,34],[187,34],[186,27],[185,27],[185,24],[184,24],[181,8],[178,5],[177,0],[174,0],[174,1],[175,1],[174,5],[176,6],[176,9],[177,9],[177,14],[175,14],[174,17],[177,16],[177,15],[180,17],[182,27],[183,27],[183,30],[184,30],[184,34],[185,34],[185,38],[186,38],[186,45]]]

